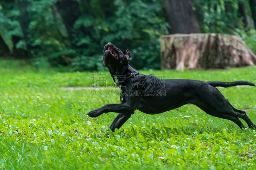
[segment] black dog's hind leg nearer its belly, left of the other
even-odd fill
[[[222,119],[228,119],[231,120],[232,122],[236,123],[241,129],[245,128],[243,123],[234,116],[231,115],[224,115],[218,111],[216,111],[215,109],[213,109],[210,105],[204,104],[204,103],[196,103],[196,106],[198,106],[199,108],[201,108],[205,113],[215,116],[215,117],[219,117]]]

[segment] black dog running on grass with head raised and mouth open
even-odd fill
[[[131,58],[128,50],[122,52],[110,42],[104,47],[104,65],[108,67],[113,80],[117,79],[116,84],[121,85],[121,104],[107,104],[92,110],[87,115],[97,117],[108,112],[119,113],[110,126],[112,131],[119,129],[136,109],[154,115],[188,103],[200,107],[209,115],[231,120],[240,128],[244,128],[243,123],[238,119],[242,118],[250,128],[256,129],[256,125],[245,112],[232,107],[215,88],[235,85],[255,86],[254,84],[247,81],[163,80],[152,75],[140,74],[128,64]]]

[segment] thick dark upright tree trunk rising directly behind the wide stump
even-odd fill
[[[164,0],[169,33],[201,33],[196,14],[189,0]]]

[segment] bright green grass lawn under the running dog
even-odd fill
[[[119,103],[119,89],[65,89],[92,84],[91,72],[35,70],[0,61],[0,169],[255,169],[256,131],[205,114],[193,105],[159,115],[140,111],[105,134],[116,113],[86,114]],[[256,68],[140,71],[165,78],[247,80]],[[99,73],[97,73],[99,74]],[[106,86],[112,84],[102,72]],[[256,123],[256,88],[218,88]],[[184,117],[185,116],[185,117]],[[190,117],[188,117],[190,116]],[[244,125],[246,123],[242,121]],[[247,125],[246,125],[247,126]]]

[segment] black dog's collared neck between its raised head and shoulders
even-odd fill
[[[126,81],[134,75],[138,75],[139,71],[135,70],[129,64],[127,64],[123,66],[117,66],[116,70],[110,71],[110,74],[116,85],[119,86],[126,83]]]

